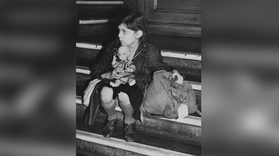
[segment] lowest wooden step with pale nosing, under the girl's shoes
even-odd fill
[[[123,131],[115,129],[113,138],[104,138],[102,124],[88,126],[77,121],[77,154],[87,155],[201,155],[201,146],[168,140],[137,132],[134,142],[123,140]]]

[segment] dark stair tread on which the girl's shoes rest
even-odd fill
[[[77,120],[76,129],[102,135],[101,132],[102,125],[98,123],[94,124],[93,126],[89,126],[83,124],[80,120]],[[121,129],[116,128],[116,133],[113,136],[113,138],[123,140],[123,131]],[[199,145],[193,145],[190,143],[184,143],[184,142],[169,140],[165,138],[159,138],[159,137],[142,134],[138,132],[137,132],[137,139],[135,140],[135,143],[150,145],[153,147],[159,147],[159,148],[177,151],[181,153],[187,153],[190,155],[201,155],[201,146]]]

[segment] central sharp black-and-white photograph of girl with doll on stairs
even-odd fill
[[[201,1],[76,1],[77,155],[201,155]]]

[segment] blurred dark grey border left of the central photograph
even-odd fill
[[[75,155],[75,1],[0,12],[0,155]]]

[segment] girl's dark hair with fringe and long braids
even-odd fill
[[[144,45],[144,68],[145,68],[145,71],[148,73],[148,71],[147,71],[147,66],[148,66],[147,52],[146,52],[146,44],[147,44],[146,43],[146,37],[147,37],[146,18],[141,13],[132,12],[132,13],[129,13],[128,15],[124,16],[123,18],[121,18],[121,20],[119,20],[118,25],[120,25],[120,24],[125,24],[128,29],[133,30],[135,32],[137,32],[138,30],[142,31],[142,36],[139,38],[139,43],[143,43],[143,45]],[[117,45],[114,48],[115,52],[117,51],[118,47],[121,46],[118,37],[117,37],[116,43],[117,43]]]

